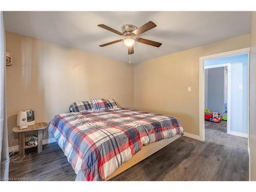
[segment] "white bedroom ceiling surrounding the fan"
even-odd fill
[[[152,20],[157,27],[140,37],[162,46],[136,42],[132,63],[250,33],[250,12],[5,12],[4,16],[7,31],[125,62],[129,57],[122,42],[99,47],[120,36],[97,25],[121,31],[124,24],[139,27]]]

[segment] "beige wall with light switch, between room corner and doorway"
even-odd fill
[[[176,116],[185,132],[199,135],[199,57],[247,47],[250,34],[139,63],[135,108]]]

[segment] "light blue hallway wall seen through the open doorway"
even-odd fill
[[[204,66],[222,63],[231,63],[230,131],[248,134],[248,54],[206,60]]]

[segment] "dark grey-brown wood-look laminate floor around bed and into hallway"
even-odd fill
[[[206,141],[182,137],[113,178],[113,181],[248,180],[247,139],[226,133],[226,122],[205,124]],[[57,143],[26,152],[10,163],[10,178],[74,181],[75,173]]]

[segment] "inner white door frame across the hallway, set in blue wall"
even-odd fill
[[[230,133],[230,122],[231,122],[231,63],[223,63],[212,66],[204,66],[204,69],[213,69],[213,68],[221,68],[227,67],[227,133]],[[232,134],[231,134],[232,135]]]

